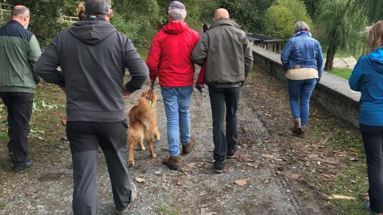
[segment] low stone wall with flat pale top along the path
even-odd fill
[[[252,47],[254,62],[266,72],[282,81],[287,81],[280,55],[259,47]],[[359,127],[359,99],[361,94],[352,91],[348,80],[323,72],[322,80],[317,84],[312,99],[331,114]]]

